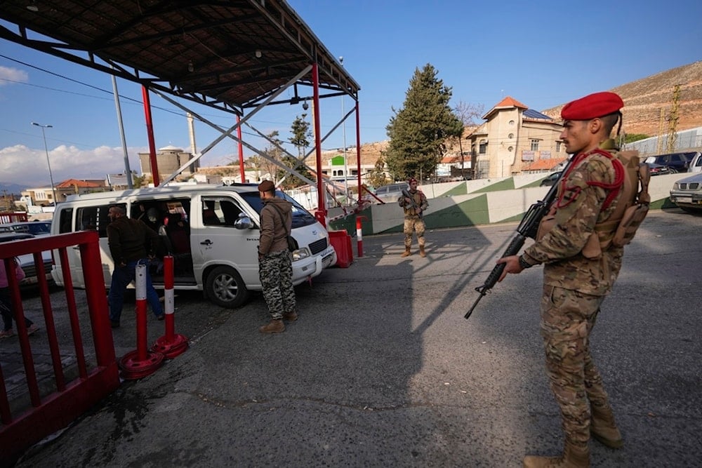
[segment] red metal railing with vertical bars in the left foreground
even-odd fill
[[[79,308],[74,296],[73,283],[69,269],[63,270],[65,284],[65,307],[60,313],[67,314],[71,325],[72,346],[66,345],[66,338],[61,341],[56,333],[55,319],[48,282],[41,261],[44,250],[58,250],[62,265],[68,265],[67,248],[78,246],[81,254],[81,267],[86,282],[86,307],[88,308],[89,325],[92,331],[95,366],[88,368],[88,360],[81,338],[81,323]],[[102,279],[102,262],[97,232],[77,232],[60,234],[58,236],[41,236],[34,239],[13,241],[0,244],[0,261],[4,261],[8,272],[8,283],[13,302],[15,318],[24,316],[24,306],[18,283],[13,274],[13,263],[6,260],[15,255],[34,253],[34,263],[37,268],[38,288],[41,295],[41,305],[44,315],[44,330],[29,340],[27,328],[23,320],[16,321],[18,329],[19,348],[25,368],[27,393],[30,408],[19,403],[8,401],[7,383],[0,366],[0,460],[2,463],[13,462],[22,451],[37,443],[44,437],[66,427],[72,420],[83,414],[88,408],[105,398],[119,387],[119,369],[114,356],[112,330],[107,312],[107,296],[105,283]],[[42,353],[33,350],[39,348],[41,340],[48,342],[48,350],[53,365],[53,388],[42,389],[37,375],[39,371],[34,366],[35,359],[40,359]],[[62,342],[62,344],[61,344]],[[64,347],[62,349],[62,346]],[[66,349],[71,347],[72,349]],[[78,376],[66,382],[67,368],[61,361],[61,356],[72,350],[76,356]],[[47,382],[43,382],[47,383]],[[16,413],[16,414],[15,414]],[[11,442],[10,442],[11,441]]]

